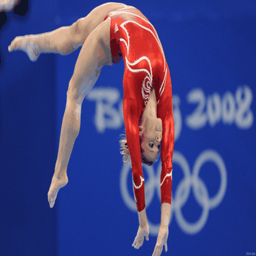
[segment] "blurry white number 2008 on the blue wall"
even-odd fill
[[[219,93],[213,93],[207,99],[202,89],[196,88],[187,95],[188,103],[198,106],[186,116],[186,124],[191,129],[200,129],[207,122],[213,127],[222,120],[225,125],[235,123],[239,129],[249,129],[253,124],[252,100],[248,86],[238,87],[235,95],[226,92],[221,98]]]

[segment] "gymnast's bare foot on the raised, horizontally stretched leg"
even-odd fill
[[[38,45],[35,44],[35,35],[15,37],[8,46],[8,51],[12,52],[17,50],[26,52],[31,61],[36,61],[39,57],[40,50]]]

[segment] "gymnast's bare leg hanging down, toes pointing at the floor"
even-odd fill
[[[61,125],[58,158],[48,192],[53,207],[58,191],[68,182],[67,166],[81,124],[81,105],[84,97],[96,83],[104,65],[111,65],[110,18],[106,19],[88,36],[76,61],[74,74],[67,92],[67,105]]]

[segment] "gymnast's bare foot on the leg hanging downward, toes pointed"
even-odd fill
[[[61,175],[56,175],[54,173],[53,177],[52,177],[52,183],[48,192],[48,202],[50,204],[50,207],[52,208],[57,194],[59,192],[59,190],[61,188],[63,188],[64,186],[66,186],[68,183],[68,177],[67,177],[67,173],[63,173]]]

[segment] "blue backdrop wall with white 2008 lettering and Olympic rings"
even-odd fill
[[[58,153],[68,56],[8,52],[18,35],[69,26],[104,1],[31,1],[1,29],[0,255],[151,255],[160,223],[161,160],[143,166],[150,239],[138,229],[131,168],[123,166],[124,62],[104,67],[82,106],[68,185],[47,191]],[[256,253],[255,1],[124,1],[152,22],[173,86],[175,152],[168,253]],[[47,159],[45,161],[45,159]],[[254,242],[253,242],[254,241]],[[151,254],[150,254],[151,253]]]

